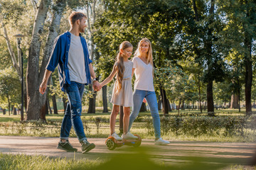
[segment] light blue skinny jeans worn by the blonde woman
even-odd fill
[[[142,107],[142,101],[146,98],[147,103],[149,104],[151,116],[153,118],[153,125],[154,125],[154,133],[155,137],[161,137],[160,132],[160,118],[159,118],[159,111],[158,105],[156,100],[156,93],[154,91],[143,91],[143,90],[135,90],[133,93],[133,103],[134,106],[132,107],[132,113],[129,118],[129,130],[132,128],[132,123],[134,122],[135,118],[139,115],[139,110]]]

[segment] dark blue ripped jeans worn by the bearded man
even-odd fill
[[[82,94],[85,84],[70,81],[70,84],[65,84],[64,89],[68,94],[68,104],[61,124],[60,140],[68,140],[72,126],[80,142],[87,140],[80,118],[82,113]]]

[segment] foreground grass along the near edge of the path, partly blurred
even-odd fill
[[[184,164],[184,162],[186,162]],[[131,164],[132,163],[132,164]],[[85,158],[80,159],[66,159],[66,158],[51,158],[45,156],[28,156],[25,154],[1,154],[0,153],[0,169],[1,170],[110,170],[120,169],[123,170],[155,170],[155,169],[197,169],[197,170],[252,170],[256,169],[256,166],[245,166],[245,165],[228,165],[225,161],[218,164],[211,164],[207,162],[207,158],[194,158],[186,157],[183,159],[182,164],[164,164],[163,162],[154,162],[150,159],[150,156],[144,152],[143,148],[138,148],[131,154],[115,154],[110,159],[101,161],[99,159],[89,160]]]

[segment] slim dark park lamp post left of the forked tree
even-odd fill
[[[24,35],[21,35],[21,34],[17,34],[17,35],[14,35],[14,37],[16,37],[17,39],[17,45],[18,45],[18,50],[21,52],[21,57],[18,55],[18,58],[19,58],[19,64],[20,64],[20,68],[21,68],[21,121],[24,120],[24,115],[23,115],[23,108],[24,108],[24,94],[23,94],[23,53],[22,53],[22,50],[21,50],[21,38],[24,37]],[[19,54],[19,52],[18,52]]]

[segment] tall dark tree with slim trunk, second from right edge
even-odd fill
[[[220,23],[220,16],[215,14],[215,5],[215,0],[193,0],[196,21],[193,29],[196,30],[194,35],[197,39],[197,49],[194,48],[194,50],[198,55],[196,61],[205,67],[203,81],[207,83],[208,115],[214,115],[213,81],[223,81],[223,77],[225,77],[225,63],[216,44],[218,33],[223,25]]]

